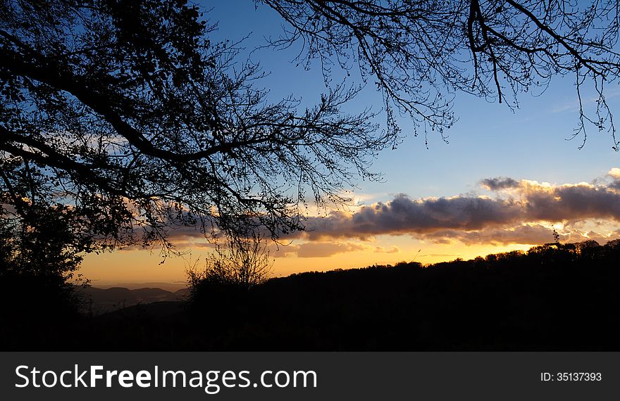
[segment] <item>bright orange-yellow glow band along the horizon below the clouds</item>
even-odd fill
[[[325,257],[298,257],[287,253],[287,247],[272,250],[274,258],[272,276],[288,276],[293,273],[329,271],[333,269],[354,269],[371,265],[394,265],[397,262],[421,262],[423,264],[444,262],[461,257],[464,260],[490,253],[510,250],[527,250],[530,245],[509,244],[506,246],[465,246],[461,243],[436,244],[416,241],[408,236],[385,236],[371,246],[359,241],[366,250],[335,253]],[[373,252],[380,246],[387,249],[397,246],[398,251]],[[171,256],[163,260],[156,252],[149,250],[116,250],[99,255],[86,255],[82,263],[82,273],[91,280],[92,286],[110,286],[134,283],[175,283],[187,280],[188,267],[200,269],[208,250],[194,249],[182,257]],[[284,255],[286,253],[286,255]]]

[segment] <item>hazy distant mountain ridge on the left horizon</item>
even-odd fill
[[[80,288],[79,291],[82,294],[86,307],[89,307],[94,313],[111,312],[123,307],[154,302],[182,301],[190,293],[189,288],[182,288],[173,292],[162,290],[161,288],[136,288],[130,290],[124,287],[84,287]]]

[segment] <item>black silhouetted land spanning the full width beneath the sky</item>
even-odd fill
[[[619,241],[209,285],[90,316],[6,287],[3,350],[620,350]]]

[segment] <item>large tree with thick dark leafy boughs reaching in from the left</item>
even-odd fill
[[[184,1],[5,1],[0,149],[6,211],[63,208],[87,250],[166,229],[274,236],[300,229],[299,201],[339,191],[385,143],[371,113],[340,113],[356,91],[314,108],[269,103],[233,70],[237,49]],[[137,232],[142,229],[142,236]]]

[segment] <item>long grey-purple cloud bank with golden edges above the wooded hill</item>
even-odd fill
[[[612,169],[609,175],[620,177],[620,169]],[[308,231],[303,235],[311,241],[411,235],[435,243],[458,240],[466,244],[535,244],[552,241],[550,226],[554,223],[569,226],[593,219],[620,222],[620,193],[615,182],[553,185],[499,177],[483,179],[481,185],[492,191],[513,191],[499,193],[495,198],[467,194],[412,199],[400,193],[386,203],[368,205],[353,213],[309,217]],[[584,235],[575,238],[583,241],[588,238]]]

